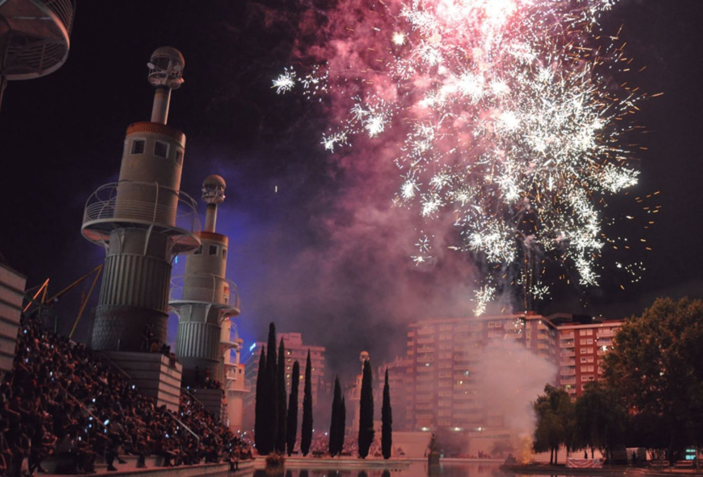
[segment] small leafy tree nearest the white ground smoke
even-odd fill
[[[534,433],[535,452],[550,451],[549,463],[557,464],[557,452],[562,444],[574,445],[575,412],[569,394],[550,384],[534,403],[537,428]]]

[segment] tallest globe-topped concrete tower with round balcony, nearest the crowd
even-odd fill
[[[127,126],[120,180],[86,202],[82,233],[107,254],[92,332],[98,351],[147,351],[147,336],[164,343],[172,259],[200,246],[197,203],[180,190],[186,136],[166,125],[183,66],[175,48],[154,51],[148,63],[148,81],[156,88],[151,121]],[[120,358],[120,365],[129,372],[145,359],[132,357],[130,364]],[[143,391],[153,379],[160,378],[143,376]],[[180,387],[180,374],[177,381]]]

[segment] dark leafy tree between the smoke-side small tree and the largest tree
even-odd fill
[[[627,412],[612,388],[591,381],[576,399],[576,433],[583,445],[600,449],[612,462],[612,450],[624,440]]]

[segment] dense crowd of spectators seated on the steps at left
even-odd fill
[[[22,318],[13,371],[0,383],[0,473],[91,473],[96,458],[117,470],[120,454],[148,455],[163,466],[218,462],[250,455],[250,447],[183,394],[177,413],[157,407],[127,377],[82,344]]]

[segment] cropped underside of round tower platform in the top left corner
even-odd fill
[[[74,0],[0,0],[0,105],[8,80],[39,78],[65,63]]]

